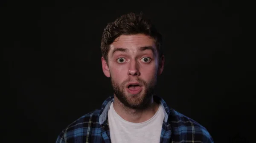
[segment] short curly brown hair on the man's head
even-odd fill
[[[121,35],[145,34],[154,38],[157,46],[158,57],[163,55],[162,51],[162,35],[157,31],[151,20],[140,14],[133,12],[122,15],[114,22],[108,23],[102,34],[101,53],[108,62],[109,45]]]

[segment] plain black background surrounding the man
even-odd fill
[[[10,98],[1,106],[9,142],[53,143],[68,124],[112,95],[100,40],[108,22],[130,11],[143,11],[163,34],[166,63],[158,95],[205,126],[215,143],[254,141],[253,53],[245,49],[249,24],[241,3],[11,4],[1,7],[8,66],[3,97]]]

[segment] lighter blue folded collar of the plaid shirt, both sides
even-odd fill
[[[160,106],[163,107],[164,109],[164,122],[166,123],[168,121],[168,117],[170,115],[170,109],[167,106],[166,102],[163,100],[163,98],[154,95],[153,96],[154,101],[156,101],[157,103],[160,103]],[[114,101],[114,96],[109,96],[103,103],[99,112],[99,124],[103,124],[107,117],[108,117],[108,110],[110,108],[111,103]]]

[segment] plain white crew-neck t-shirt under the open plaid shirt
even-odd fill
[[[111,143],[159,143],[163,125],[163,107],[142,123],[131,123],[120,117],[111,103],[108,111]]]

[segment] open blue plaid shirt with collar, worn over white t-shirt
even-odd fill
[[[207,129],[196,121],[171,109],[159,96],[154,101],[164,110],[160,143],[213,143]],[[113,96],[108,97],[101,109],[83,115],[64,129],[56,143],[111,143],[108,126],[108,109]]]

